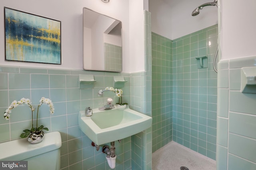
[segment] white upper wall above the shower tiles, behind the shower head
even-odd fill
[[[213,0],[149,0],[152,32],[176,39],[218,23],[216,6],[206,6],[198,16],[192,11]]]

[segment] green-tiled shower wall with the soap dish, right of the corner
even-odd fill
[[[173,40],[173,141],[216,159],[217,73],[213,59],[217,48],[213,25]],[[208,57],[198,68],[195,57]]]

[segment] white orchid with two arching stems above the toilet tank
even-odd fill
[[[53,114],[54,113],[54,107],[53,107],[53,104],[52,104],[52,101],[49,100],[48,98],[44,98],[42,97],[39,101],[40,103],[38,104],[37,106],[37,115],[36,115],[36,127],[34,127],[33,125],[33,111],[35,110],[34,107],[32,106],[31,102],[30,102],[30,99],[25,99],[25,98],[21,98],[20,101],[16,101],[14,100],[12,102],[12,104],[8,107],[8,109],[6,109],[6,111],[4,112],[4,118],[6,120],[9,120],[10,118],[10,113],[11,113],[11,110],[15,107],[18,107],[19,105],[23,105],[23,104],[27,104],[29,106],[29,108],[31,109],[31,115],[32,115],[32,128],[29,130],[29,129],[25,129],[22,133],[20,134],[20,137],[21,138],[25,138],[25,137],[28,137],[28,135],[32,132],[36,132],[36,131],[42,131],[42,130],[46,130],[48,131],[49,129],[47,127],[44,127],[43,125],[40,125],[38,127],[38,110],[39,110],[39,107],[42,106],[42,104],[48,104],[48,106],[50,107],[50,113]]]

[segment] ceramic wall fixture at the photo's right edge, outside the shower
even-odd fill
[[[256,94],[256,67],[241,69],[241,91]]]

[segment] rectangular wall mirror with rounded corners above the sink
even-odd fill
[[[122,72],[122,23],[83,9],[84,70]]]

